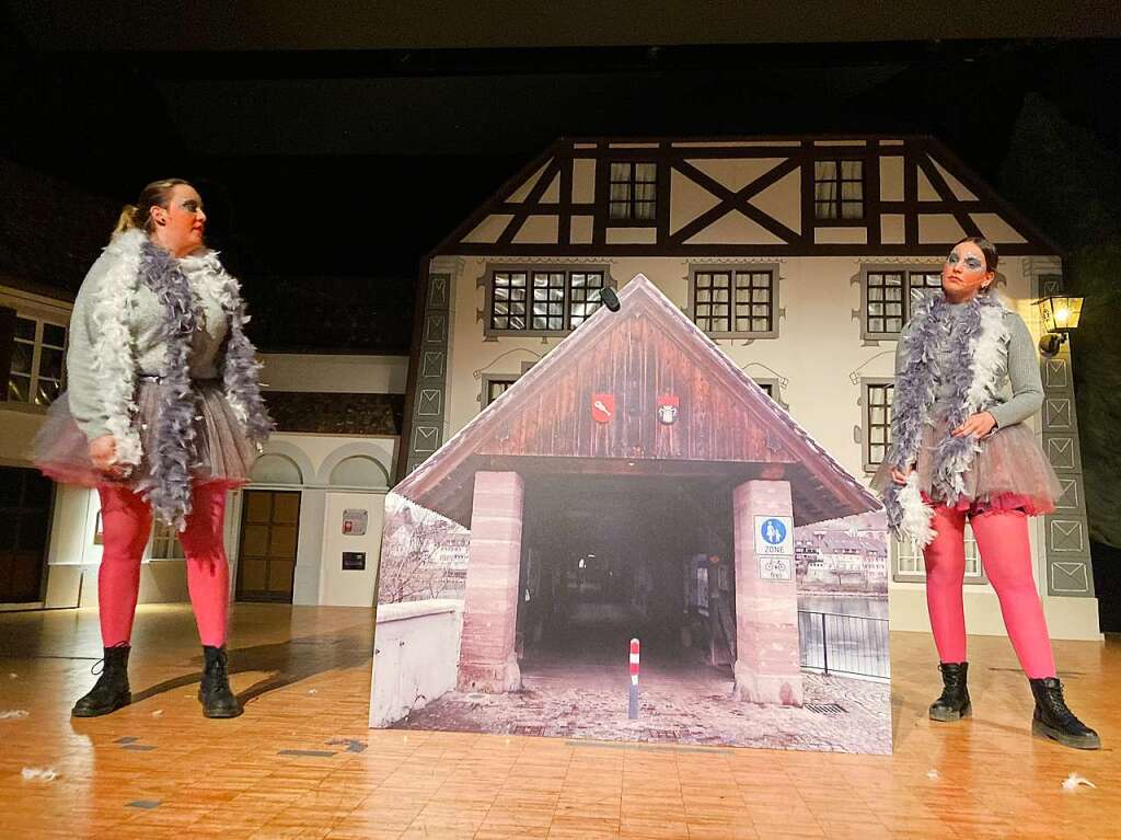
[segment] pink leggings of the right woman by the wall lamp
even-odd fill
[[[926,547],[926,603],[942,662],[965,662],[965,518],[967,510],[937,505],[937,536]],[[1022,510],[993,510],[970,517],[981,562],[997,590],[1004,627],[1020,667],[1031,679],[1055,676],[1047,621],[1031,576],[1028,517]]]

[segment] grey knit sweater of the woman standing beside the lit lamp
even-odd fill
[[[958,313],[964,314],[965,307],[951,305],[947,312],[951,314],[951,321],[943,324],[943,341],[938,347],[937,353],[939,364],[951,358],[948,339],[953,323],[952,320],[956,319]],[[1006,393],[1009,390],[1007,386],[1010,385],[1011,395],[1002,403],[986,408],[997,418],[997,426],[1001,428],[1016,423],[1022,423],[1036,414],[1044,403],[1044,386],[1039,377],[1039,358],[1036,356],[1036,345],[1031,340],[1031,333],[1028,331],[1027,324],[1015,312],[1007,310],[1004,312],[1004,325],[1008,327],[1009,333],[1008,360],[998,375],[998,381]],[[896,347],[897,378],[901,376],[906,367],[907,336],[907,327],[904,327],[899,343]],[[953,386],[948,379],[939,377],[932,414],[937,416],[948,413],[947,409],[952,408],[953,399]]]

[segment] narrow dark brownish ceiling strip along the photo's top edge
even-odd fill
[[[9,0],[35,49],[457,49],[1121,35],[1109,0]],[[142,11],[141,11],[142,10]]]

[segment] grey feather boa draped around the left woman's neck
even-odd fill
[[[192,459],[195,453],[195,415],[197,396],[188,375],[191,338],[195,330],[195,306],[192,277],[209,283],[222,303],[230,322],[222,370],[223,390],[245,436],[253,443],[263,442],[274,424],[261,398],[257,381],[258,364],[253,345],[245,336],[248,321],[237,281],[225,274],[216,255],[176,259],[168,251],[145,238],[140,244],[138,280],[156,295],[165,308],[161,324],[167,348],[165,375],[160,379],[161,398],[151,435],[152,451],[147,453],[150,474],[137,492],[151,506],[161,521],[183,530],[191,514]]]

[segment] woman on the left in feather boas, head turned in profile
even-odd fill
[[[154,516],[178,532],[186,555],[203,714],[241,714],[226,671],[225,495],[245,482],[271,421],[238,281],[204,247],[205,224],[198,193],[177,178],[149,184],[124,207],[78,290],[68,390],[36,440],[45,474],[101,497],[104,670],[75,717],[131,702],[130,637]]]

